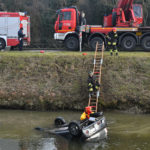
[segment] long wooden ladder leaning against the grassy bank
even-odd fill
[[[102,76],[102,65],[103,65],[103,57],[104,57],[104,43],[99,44],[97,42],[94,56],[94,67],[93,67],[93,75],[95,80],[98,81],[101,85],[101,76]],[[92,106],[92,111],[97,112],[98,109],[98,101],[100,97],[100,87],[99,90],[94,92],[92,96],[89,96],[88,106]]]

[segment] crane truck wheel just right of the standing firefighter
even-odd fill
[[[134,37],[132,36],[126,36],[123,38],[122,42],[121,42],[121,47],[124,50],[134,50],[136,46],[136,40]]]

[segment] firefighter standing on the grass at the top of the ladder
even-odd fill
[[[113,52],[116,54],[116,56],[118,56],[117,38],[118,38],[118,34],[116,29],[113,29],[107,35],[107,41],[108,41],[107,47],[109,48],[109,52],[111,56],[113,55]]]

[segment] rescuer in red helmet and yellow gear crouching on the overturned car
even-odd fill
[[[82,113],[80,120],[84,121],[89,119],[91,114],[93,114],[92,107],[91,106],[85,107],[85,111]]]

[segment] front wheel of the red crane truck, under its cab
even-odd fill
[[[78,50],[79,40],[76,37],[71,36],[65,40],[65,47],[68,50]]]

